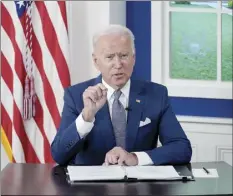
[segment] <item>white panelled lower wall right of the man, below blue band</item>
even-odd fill
[[[232,120],[178,116],[191,141],[192,162],[225,161],[232,165]]]

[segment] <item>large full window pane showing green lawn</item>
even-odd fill
[[[171,13],[170,77],[216,80],[217,15]]]

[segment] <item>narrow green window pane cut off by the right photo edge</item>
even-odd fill
[[[232,81],[232,14],[222,14],[222,80]]]

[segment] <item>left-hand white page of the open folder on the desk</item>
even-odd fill
[[[68,166],[71,181],[82,180],[121,180],[125,172],[122,166]]]

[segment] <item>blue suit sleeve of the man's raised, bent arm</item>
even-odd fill
[[[79,112],[69,89],[65,89],[60,127],[51,144],[52,157],[60,165],[71,163],[76,154],[83,148],[85,137],[80,137],[76,127],[78,116]]]

